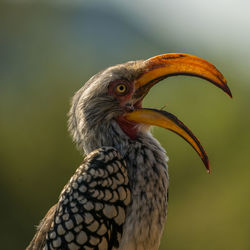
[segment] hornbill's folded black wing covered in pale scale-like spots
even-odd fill
[[[112,147],[95,150],[64,187],[27,249],[118,248],[130,201],[120,153]]]

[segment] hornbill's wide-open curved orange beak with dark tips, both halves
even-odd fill
[[[232,97],[226,79],[211,63],[188,54],[171,53],[143,62],[142,73],[135,80],[133,98],[140,102],[157,82],[176,75],[196,76],[208,80]],[[183,137],[201,157],[210,173],[207,154],[194,134],[176,116],[156,109],[136,109],[124,114],[128,121],[169,129]]]

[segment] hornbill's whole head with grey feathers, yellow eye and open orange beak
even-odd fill
[[[69,129],[77,145],[86,150],[87,143],[94,145],[96,141],[98,146],[103,138],[99,134],[108,132],[105,128],[111,121],[116,122],[131,140],[147,133],[150,125],[159,126],[185,139],[210,172],[207,154],[199,140],[176,116],[142,107],[143,98],[152,86],[176,75],[203,78],[232,97],[226,79],[216,67],[193,55],[170,53],[116,65],[90,78],[73,98]]]

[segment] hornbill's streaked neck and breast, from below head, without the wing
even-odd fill
[[[85,153],[112,146],[123,156],[128,169],[132,203],[127,208],[121,250],[158,249],[163,231],[168,189],[167,156],[148,130],[132,139],[115,120],[85,133]],[[129,243],[129,245],[128,245]]]

